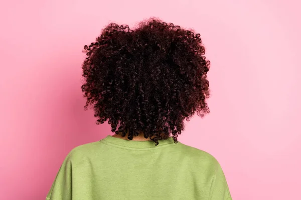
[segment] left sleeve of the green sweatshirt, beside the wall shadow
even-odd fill
[[[63,161],[46,200],[71,200],[72,199],[72,162],[71,152]]]

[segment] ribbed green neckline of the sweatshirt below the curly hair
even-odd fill
[[[146,141],[133,141],[133,140],[126,140],[118,137],[113,137],[112,135],[107,135],[105,138],[100,140],[104,143],[111,143],[119,146],[129,147],[129,148],[149,148],[149,147],[158,147],[166,144],[172,144],[174,142],[173,137],[169,137],[168,139],[159,140],[159,144],[156,146],[156,143],[152,140]]]

